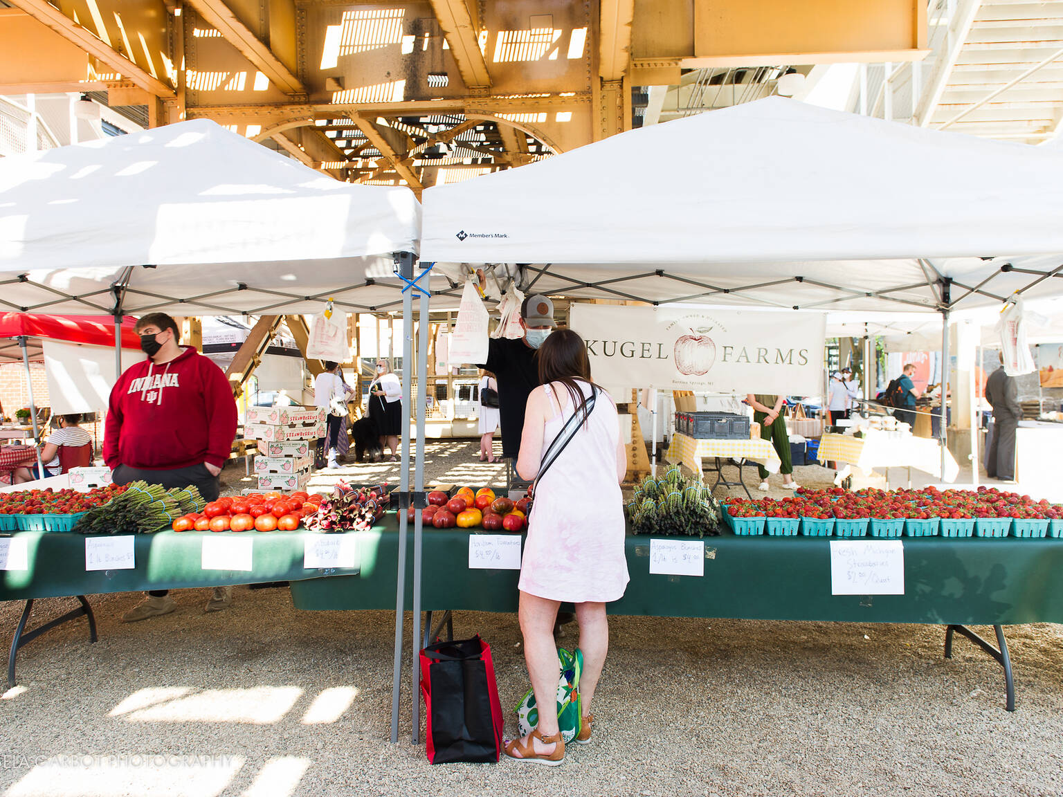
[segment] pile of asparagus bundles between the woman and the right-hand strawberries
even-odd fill
[[[720,533],[720,505],[701,481],[673,468],[661,479],[647,476],[627,505],[627,518],[638,535],[704,537]]]

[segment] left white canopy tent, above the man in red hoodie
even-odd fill
[[[340,183],[207,120],[0,159],[0,307],[398,308],[406,188]]]

